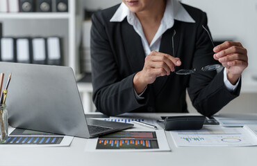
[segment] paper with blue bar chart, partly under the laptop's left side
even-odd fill
[[[9,136],[0,147],[68,147],[74,137],[9,127]]]

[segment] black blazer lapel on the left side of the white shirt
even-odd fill
[[[133,73],[141,71],[144,67],[145,59],[141,37],[127,21],[122,24],[122,41],[126,57],[128,57],[128,62],[131,64],[131,70]]]

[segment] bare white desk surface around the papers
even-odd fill
[[[86,152],[83,138],[70,147],[1,147],[0,165],[256,165],[257,147],[176,147],[166,136],[172,151]]]

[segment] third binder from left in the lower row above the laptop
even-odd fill
[[[32,63],[33,64],[47,64],[47,47],[46,39],[33,38],[32,39]]]

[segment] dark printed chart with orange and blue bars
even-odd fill
[[[158,149],[155,131],[122,131],[99,137],[97,149]]]

